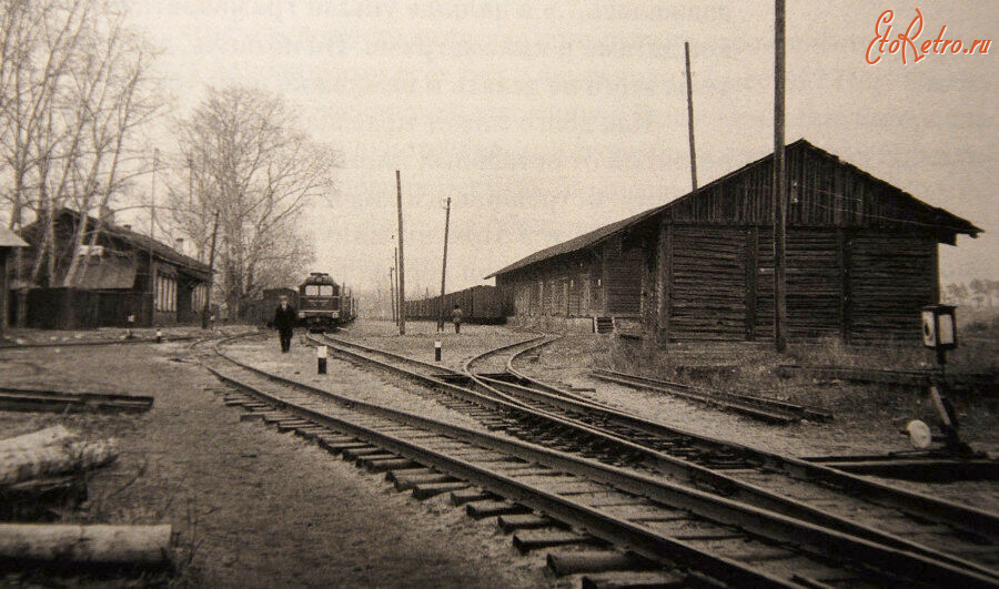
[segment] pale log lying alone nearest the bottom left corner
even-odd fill
[[[165,568],[171,536],[167,525],[0,524],[0,562],[8,569],[27,563]]]

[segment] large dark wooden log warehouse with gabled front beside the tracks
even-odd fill
[[[805,140],[786,148],[788,335],[915,343],[938,244],[981,230]],[[773,154],[488,277],[514,322],[659,342],[774,337]]]

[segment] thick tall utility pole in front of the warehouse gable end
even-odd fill
[[[787,348],[787,293],[785,273],[785,214],[787,190],[784,167],[784,0],[775,0],[774,57],[774,344],[777,352]]]

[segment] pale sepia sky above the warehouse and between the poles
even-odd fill
[[[336,150],[336,191],[310,212],[313,270],[387,286],[402,177],[408,293],[447,290],[690,190],[774,148],[774,2],[131,0],[179,115],[205,88],[281,95]],[[805,138],[985,233],[941,245],[941,281],[999,278],[997,63],[901,53],[897,38],[987,40],[999,2],[787,0],[790,143]],[[884,31],[885,24],[880,30]],[[997,40],[999,41],[999,40]],[[887,48],[886,48],[887,49]],[[871,58],[876,53],[871,54]]]

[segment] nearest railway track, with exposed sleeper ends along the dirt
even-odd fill
[[[216,344],[200,353],[238,387],[226,403],[327,448],[389,470],[424,494],[475,485],[506,501],[474,514],[514,514],[521,548],[607,542],[675,575],[737,587],[996,587],[988,576],[595,460],[363,403],[254,368]],[[436,487],[434,487],[436,485]],[[468,498],[468,494],[464,495]],[[473,499],[486,499],[472,494]],[[564,526],[569,526],[568,529]],[[551,555],[549,555],[551,557]],[[694,577],[684,577],[693,582]],[[680,579],[682,582],[684,579]]]

